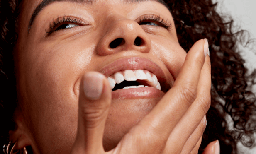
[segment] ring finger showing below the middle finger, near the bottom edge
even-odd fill
[[[201,145],[202,135],[205,131],[206,124],[206,117],[204,117],[195,129],[195,131],[192,133],[192,135],[190,135],[190,137],[188,138],[181,151],[181,154],[197,154],[198,149]]]

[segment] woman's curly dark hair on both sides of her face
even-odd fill
[[[248,44],[244,30],[235,31],[234,22],[216,12],[212,0],[163,0],[169,7],[180,46],[185,51],[201,39],[209,42],[212,65],[211,107],[199,153],[219,140],[221,154],[238,154],[237,143],[254,146],[256,97],[251,91],[256,70],[249,72],[240,55],[239,43]],[[12,51],[17,40],[17,18],[22,0],[0,0],[0,145],[8,142],[14,128],[17,107]],[[228,21],[227,21],[228,20]]]

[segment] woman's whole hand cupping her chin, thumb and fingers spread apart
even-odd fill
[[[104,151],[102,138],[112,91],[104,75],[85,73],[80,84],[78,130],[71,154],[197,153],[211,100],[211,66],[209,56],[205,57],[204,43],[200,40],[194,44],[173,87],[109,152]]]

